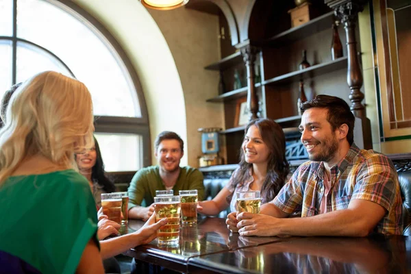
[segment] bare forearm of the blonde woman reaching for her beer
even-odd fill
[[[100,253],[103,260],[117,256],[133,247],[140,245],[138,234],[126,234],[116,238],[100,241]]]

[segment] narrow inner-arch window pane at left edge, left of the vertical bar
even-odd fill
[[[12,86],[12,41],[0,40],[0,99]]]

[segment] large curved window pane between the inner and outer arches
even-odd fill
[[[95,115],[140,117],[136,90],[117,53],[95,27],[52,2],[18,0],[17,36],[45,47],[69,66],[90,90]]]

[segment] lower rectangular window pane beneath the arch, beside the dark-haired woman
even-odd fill
[[[95,133],[105,171],[138,171],[142,168],[142,136]]]

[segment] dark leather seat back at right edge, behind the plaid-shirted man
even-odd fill
[[[403,235],[411,236],[411,171],[398,173],[403,200]]]

